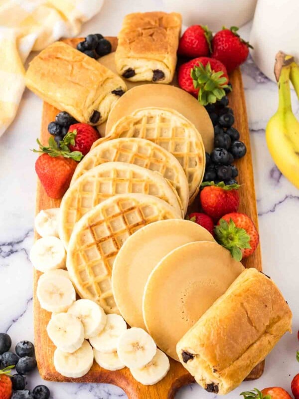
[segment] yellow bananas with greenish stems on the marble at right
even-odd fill
[[[280,51],[274,68],[279,89],[279,106],[266,127],[270,154],[282,174],[299,188],[299,121],[292,111],[290,80],[299,97],[299,65]]]

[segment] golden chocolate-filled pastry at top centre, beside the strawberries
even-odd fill
[[[181,29],[176,12],[135,12],[125,17],[115,53],[120,75],[131,81],[170,83]]]

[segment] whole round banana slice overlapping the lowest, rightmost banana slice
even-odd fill
[[[132,327],[119,339],[117,353],[125,366],[139,369],[146,366],[156,353],[156,344],[142,328]]]

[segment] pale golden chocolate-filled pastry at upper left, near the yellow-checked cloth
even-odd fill
[[[127,90],[124,81],[95,59],[57,41],[30,62],[26,86],[79,122],[100,125]]]

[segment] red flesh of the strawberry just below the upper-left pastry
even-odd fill
[[[68,133],[76,133],[75,144],[70,144],[71,151],[80,151],[86,155],[93,143],[100,138],[99,132],[87,123],[75,123],[69,127]]]

